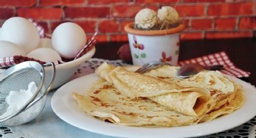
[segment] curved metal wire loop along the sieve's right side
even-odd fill
[[[45,92],[43,92],[42,95],[40,95],[40,97],[37,97],[34,101],[32,101],[30,104],[28,104],[26,109],[28,109],[29,107],[33,106],[35,103],[37,103],[37,101],[41,100],[51,90],[52,85],[54,84],[54,80],[55,80],[56,68],[55,68],[54,62],[48,62],[46,64],[43,64],[43,67],[49,67],[49,66],[52,67],[52,77],[51,77],[51,82],[50,82],[48,88],[45,90]],[[46,80],[44,79],[43,83],[45,83],[45,81]]]

